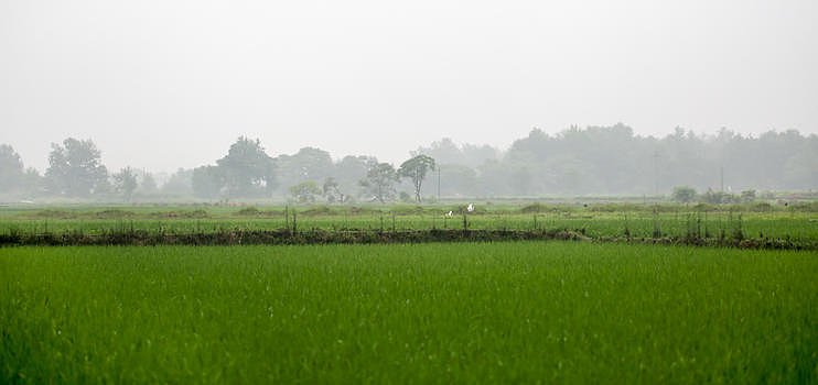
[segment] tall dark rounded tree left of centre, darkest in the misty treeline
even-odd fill
[[[273,163],[261,142],[239,136],[225,157],[216,161],[222,169],[227,195],[247,197],[270,191],[273,184]]]

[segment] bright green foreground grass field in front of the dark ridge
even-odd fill
[[[0,383],[818,382],[809,252],[0,249]]]

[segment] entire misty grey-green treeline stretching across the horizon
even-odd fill
[[[109,170],[90,140],[52,144],[49,168],[25,168],[0,145],[0,198],[71,197],[235,199],[287,197],[299,202],[421,201],[452,196],[667,195],[706,191],[810,190],[818,187],[818,136],[790,130],[757,136],[722,129],[697,135],[676,129],[664,138],[635,135],[624,124],[534,129],[505,152],[458,145],[450,139],[411,152],[401,165],[374,156],[333,161],[304,147],[272,156],[258,140],[239,138],[224,157],[179,169],[158,186],[139,168]],[[681,194],[681,195],[679,195]]]

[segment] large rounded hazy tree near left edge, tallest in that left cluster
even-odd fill
[[[52,143],[51,148],[45,172],[51,193],[87,197],[108,187],[108,170],[94,142],[68,138],[62,145]]]

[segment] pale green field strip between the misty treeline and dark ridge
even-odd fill
[[[818,202],[783,209],[736,206],[477,206],[466,217],[472,230],[558,229],[592,238],[686,237],[786,239],[818,244]],[[0,234],[101,234],[109,231],[218,233],[290,228],[338,230],[462,229],[465,206],[386,207],[43,207],[0,209]],[[452,217],[445,216],[452,211]],[[294,219],[293,219],[294,218]]]

